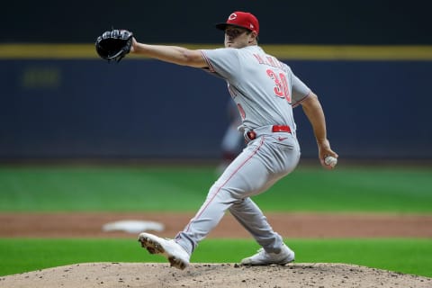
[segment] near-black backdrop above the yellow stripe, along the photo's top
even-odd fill
[[[426,0],[22,0],[2,3],[0,27],[3,42],[91,42],[114,27],[146,42],[215,43],[213,23],[240,10],[257,15],[265,43],[432,44],[431,8]]]

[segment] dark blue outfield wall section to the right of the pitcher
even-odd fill
[[[291,61],[290,65],[319,94],[329,139],[341,155],[432,157],[428,89],[432,62]],[[296,115],[297,121],[306,121],[302,113]],[[303,150],[309,153],[311,133],[299,132],[299,138],[305,139]]]

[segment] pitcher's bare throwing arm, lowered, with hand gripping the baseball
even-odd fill
[[[338,154],[330,148],[329,139],[327,139],[326,119],[318,96],[311,92],[311,94],[302,101],[302,108],[309,121],[311,121],[313,133],[315,134],[315,139],[317,139],[321,165],[330,168],[324,163],[325,157],[338,157]]]

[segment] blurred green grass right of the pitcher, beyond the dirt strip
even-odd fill
[[[331,172],[304,168],[276,183],[257,201],[272,211],[430,213],[432,168],[350,167]]]

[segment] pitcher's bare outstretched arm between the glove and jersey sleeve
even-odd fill
[[[201,50],[185,49],[178,46],[148,45],[139,43],[133,38],[130,52],[182,66],[208,67],[207,62],[202,57]]]

